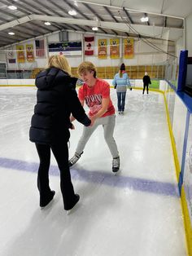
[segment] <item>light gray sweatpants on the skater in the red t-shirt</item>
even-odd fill
[[[76,148],[76,152],[81,154],[85,148],[85,144],[88,142],[90,136],[93,134],[94,130],[98,128],[98,126],[103,126],[104,138],[107,142],[107,145],[110,149],[112,157],[119,157],[119,152],[117,150],[116,141],[113,138],[113,131],[116,124],[116,115],[111,115],[107,117],[99,117],[95,120],[94,126],[84,126],[83,134],[81,135],[81,139],[79,140]]]

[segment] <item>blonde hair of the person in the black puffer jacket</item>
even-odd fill
[[[67,72],[70,76],[72,75],[68,60],[63,55],[50,56],[46,68],[59,68]]]

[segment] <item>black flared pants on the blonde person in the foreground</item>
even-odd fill
[[[36,148],[40,159],[37,175],[37,187],[40,193],[40,203],[46,201],[50,196],[49,169],[51,149],[60,171],[60,188],[63,195],[64,209],[71,209],[72,205],[74,205],[75,194],[68,167],[68,143],[57,143],[51,145],[36,143]]]

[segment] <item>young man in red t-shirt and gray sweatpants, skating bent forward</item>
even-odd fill
[[[89,61],[81,63],[77,73],[84,81],[79,89],[78,97],[82,106],[86,104],[89,107],[89,118],[91,126],[83,129],[83,134],[79,140],[74,156],[69,160],[69,166],[76,164],[83,153],[85,144],[98,126],[103,126],[104,138],[110,149],[112,156],[112,172],[117,174],[120,170],[120,156],[113,138],[113,132],[116,125],[115,108],[110,98],[110,86],[103,79],[96,77],[96,68]],[[75,118],[71,117],[71,121]]]

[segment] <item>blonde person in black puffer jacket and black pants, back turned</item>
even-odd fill
[[[29,139],[36,144],[40,158],[37,174],[37,188],[40,192],[40,206],[52,201],[55,191],[50,190],[50,150],[60,170],[60,188],[64,210],[72,210],[80,196],[75,194],[68,166],[69,129],[74,129],[70,115],[83,125],[91,121],[76,94],[76,80],[71,77],[71,68],[63,55],[51,56],[47,68],[37,74],[37,104],[29,130]]]

